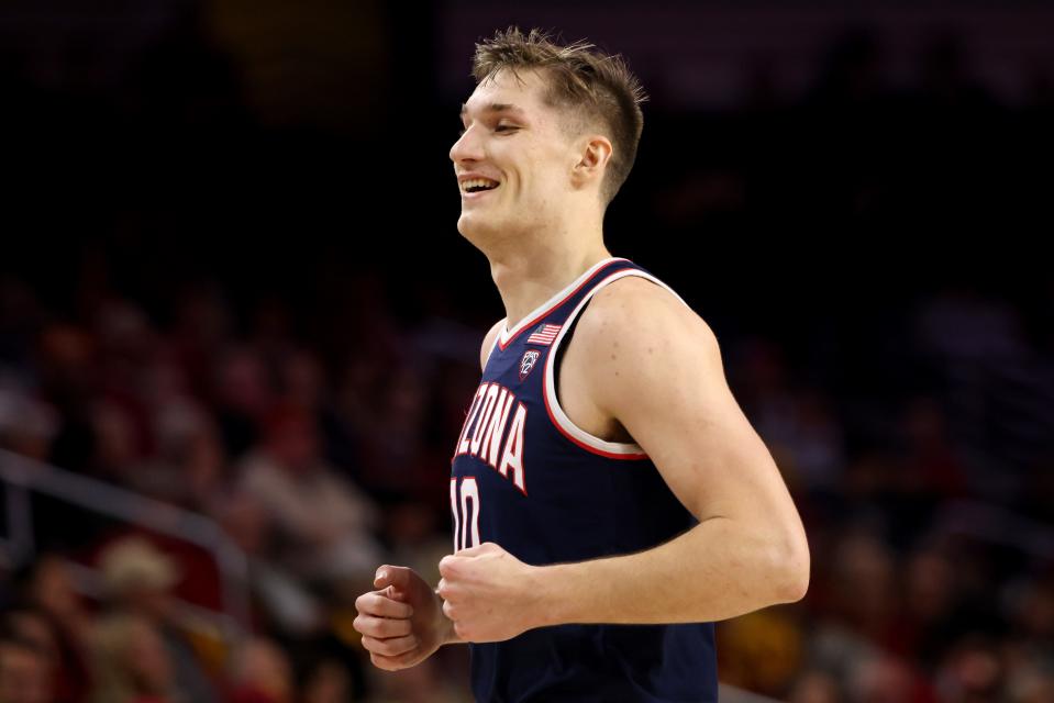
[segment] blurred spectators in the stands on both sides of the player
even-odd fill
[[[243,325],[218,288],[175,309],[159,325],[111,293],[58,319],[7,278],[0,444],[214,520],[249,559],[249,631],[232,641],[185,607],[220,607],[200,549],[41,498],[41,554],[5,565],[0,701],[463,700],[464,648],[382,676],[351,620],[378,565],[434,581],[451,550],[444,467],[480,331],[381,310],[374,342],[332,364],[274,301]],[[1031,369],[1042,389],[1054,364],[994,299],[912,310],[898,358],[925,393],[862,401],[770,339],[724,339],[813,563],[803,602],[719,626],[728,683],[794,703],[1054,695],[1051,447],[1019,466],[986,429],[1000,393],[1022,398],[994,375]],[[98,569],[97,593],[71,563]]]

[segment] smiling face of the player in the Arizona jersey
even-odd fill
[[[542,97],[544,74],[510,70],[465,103],[465,131],[451,148],[462,197],[458,231],[479,242],[558,224],[579,160],[567,118]]]

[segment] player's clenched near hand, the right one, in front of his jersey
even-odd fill
[[[465,641],[502,641],[543,624],[539,567],[486,542],[440,561],[435,590]]]

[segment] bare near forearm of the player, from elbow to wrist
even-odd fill
[[[633,555],[539,567],[540,625],[713,622],[799,600],[808,548],[724,518]]]

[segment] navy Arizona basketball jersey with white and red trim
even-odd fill
[[[455,550],[493,542],[525,563],[583,561],[696,524],[641,447],[586,433],[557,401],[561,343],[593,293],[625,276],[662,284],[607,259],[499,332],[455,447]],[[711,623],[561,625],[469,647],[480,702],[718,700]]]

